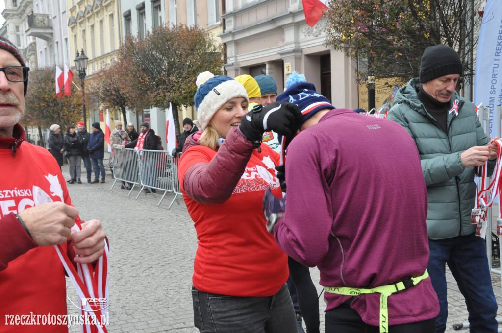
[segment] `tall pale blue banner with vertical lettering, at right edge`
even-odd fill
[[[502,105],[502,2],[487,0],[481,21],[474,71],[474,105],[483,103],[495,118],[496,105]],[[490,122],[490,137],[496,136]]]

